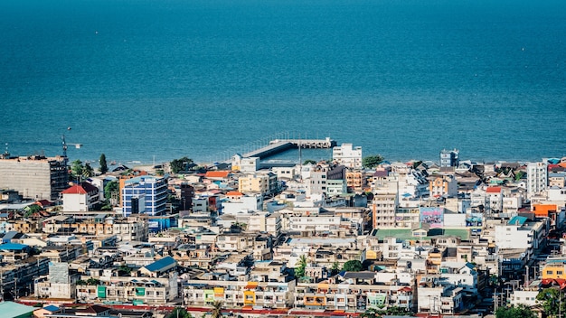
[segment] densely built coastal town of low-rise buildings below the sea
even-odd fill
[[[325,147],[332,158],[266,160]],[[566,157],[0,155],[3,317],[561,317]]]

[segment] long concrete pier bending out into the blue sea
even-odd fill
[[[260,146],[257,149],[241,154],[241,156],[265,159],[271,155],[288,151],[289,149],[329,149],[335,145],[335,140],[330,137],[326,137],[325,139],[274,139],[269,141],[268,145]],[[230,164],[231,158],[222,161],[222,163]]]

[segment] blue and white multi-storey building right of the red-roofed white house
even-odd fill
[[[165,214],[167,202],[167,180],[165,177],[143,175],[123,181],[122,212],[148,215]]]

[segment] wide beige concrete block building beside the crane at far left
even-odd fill
[[[14,189],[24,198],[57,200],[68,182],[67,157],[0,156],[0,188]]]

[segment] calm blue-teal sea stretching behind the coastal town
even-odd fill
[[[563,0],[0,1],[0,34],[13,155],[63,136],[95,165],[325,137],[389,161],[566,155]]]

